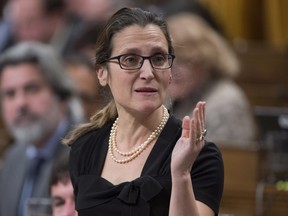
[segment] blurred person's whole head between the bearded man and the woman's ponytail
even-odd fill
[[[78,54],[67,56],[64,61],[68,74],[74,80],[85,119],[88,121],[108,103],[109,97],[104,94],[91,59],[84,54]]]

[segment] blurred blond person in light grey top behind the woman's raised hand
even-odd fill
[[[257,138],[254,117],[246,95],[233,80],[240,69],[228,42],[192,13],[169,16],[168,25],[177,56],[169,86],[172,113],[183,118],[191,115],[197,101],[206,101],[207,139],[252,147]]]

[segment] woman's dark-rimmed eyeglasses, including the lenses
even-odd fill
[[[136,54],[123,54],[107,59],[107,62],[117,59],[120,68],[124,70],[138,70],[146,59],[149,60],[152,68],[165,70],[172,67],[175,56],[172,54],[155,54],[152,56],[141,56]]]

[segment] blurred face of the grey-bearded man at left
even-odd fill
[[[41,145],[61,120],[62,105],[34,64],[4,67],[0,96],[5,124],[19,142]]]

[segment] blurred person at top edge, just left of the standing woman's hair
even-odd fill
[[[135,5],[131,0],[63,0],[66,13],[76,21],[77,30],[73,31],[65,55],[85,52],[94,55],[95,41],[103,23],[119,8]]]

